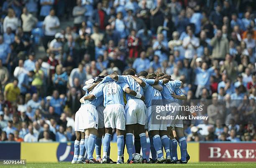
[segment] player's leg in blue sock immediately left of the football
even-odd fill
[[[131,163],[131,160],[133,158],[133,128],[135,126],[136,124],[129,124],[125,126],[125,130],[126,130],[125,144],[126,144],[127,153],[129,155],[127,163]]]

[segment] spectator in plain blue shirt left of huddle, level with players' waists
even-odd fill
[[[57,90],[53,91],[52,99],[50,100],[50,106],[54,107],[54,112],[60,115],[63,112],[63,107],[65,102],[59,97],[59,92]]]

